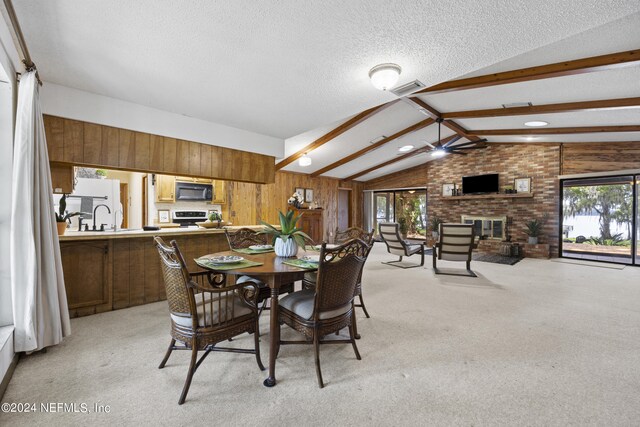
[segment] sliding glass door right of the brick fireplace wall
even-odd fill
[[[638,263],[637,176],[562,182],[562,256]]]

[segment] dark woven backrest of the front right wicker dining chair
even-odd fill
[[[327,249],[326,243],[322,244],[313,313],[315,320],[320,319],[321,313],[348,311],[371,247],[360,239],[349,240],[333,249]]]

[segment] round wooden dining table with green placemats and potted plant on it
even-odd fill
[[[249,261],[260,262],[262,265],[254,267],[245,267],[238,269],[216,270],[215,267],[204,267],[208,270],[231,274],[234,276],[248,275],[262,280],[271,289],[271,309],[269,322],[269,376],[264,380],[263,384],[267,387],[276,385],[276,350],[278,341],[280,340],[280,324],[278,322],[278,295],[280,294],[280,286],[302,280],[304,273],[314,271],[312,269],[302,269],[293,265],[284,264],[283,261],[295,258],[283,258],[277,256],[274,252],[266,252],[262,254],[238,254],[234,251],[217,252],[205,255],[205,257],[241,255]]]

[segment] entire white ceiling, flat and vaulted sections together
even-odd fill
[[[395,62],[403,67],[399,84],[418,79],[432,87],[637,49],[636,0],[14,4],[45,83],[275,136],[286,140],[283,159],[316,142],[309,150],[312,166],[280,164],[283,170],[315,176],[367,180],[430,160],[419,151],[390,163],[402,145],[425,151],[425,141],[437,140],[435,116],[421,112],[420,103],[446,117],[512,102],[539,106],[640,97],[637,62],[569,77],[425,92],[414,102],[374,89],[367,76],[373,65]],[[391,101],[397,102],[387,105]],[[380,105],[385,108],[368,111]],[[451,120],[480,135],[522,128],[531,118],[548,121],[548,128],[640,125],[639,111]],[[447,123],[441,138],[461,127]],[[481,137],[522,143],[640,141],[640,132],[536,135],[531,140],[526,135]]]

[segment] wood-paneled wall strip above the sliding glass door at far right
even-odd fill
[[[640,142],[562,145],[562,174],[640,169]]]

